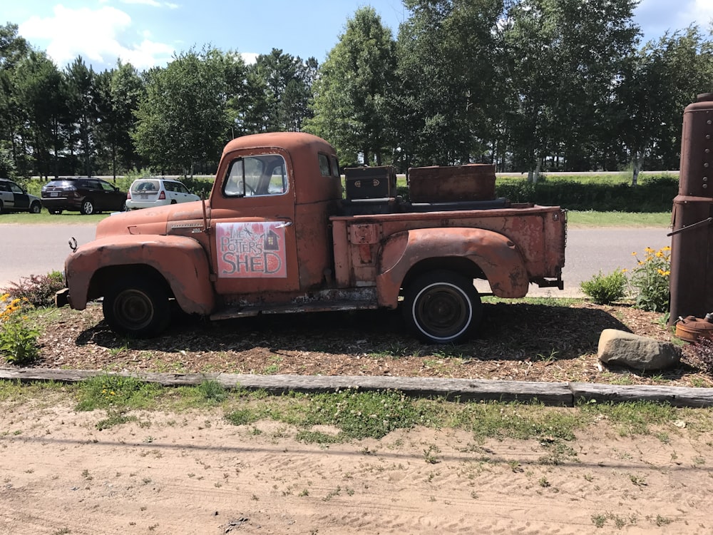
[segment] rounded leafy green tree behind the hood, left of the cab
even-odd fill
[[[232,63],[244,66],[237,54],[191,50],[148,73],[133,139],[152,165],[193,175],[195,163],[217,160],[231,126],[227,102],[237,83],[229,83]]]

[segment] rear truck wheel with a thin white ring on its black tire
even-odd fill
[[[483,316],[481,297],[473,280],[446,270],[416,277],[404,292],[404,319],[425,342],[466,340]]]

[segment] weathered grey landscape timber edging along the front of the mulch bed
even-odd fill
[[[579,400],[595,402],[665,402],[674,407],[713,407],[713,389],[658,387],[579,382],[529,382],[488,379],[443,379],[438,377],[389,377],[344,375],[256,375],[256,374],[178,374],[107,373],[99,370],[58,370],[45,368],[1,368],[0,379],[20,382],[78,382],[101,375],[135,377],[165,387],[195,386],[214,380],[226,389],[284,392],[336,392],[344,389],[364,391],[398,390],[413,397],[444,397],[450,401],[540,402],[545,405],[574,407]]]

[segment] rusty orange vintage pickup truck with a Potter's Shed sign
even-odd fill
[[[236,138],[207,200],[111,215],[75,245],[57,305],[103,297],[108,325],[132,337],[159,335],[175,305],[212,320],[400,306],[422,340],[456,343],[481,320],[475,279],[498,297],[563,287],[559,207],[343,191],[336,152],[317,136]]]

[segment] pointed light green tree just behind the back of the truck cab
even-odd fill
[[[342,161],[381,165],[389,140],[389,94],[394,89],[395,42],[371,7],[347,20],[314,82],[314,118],[305,130],[322,136]]]

